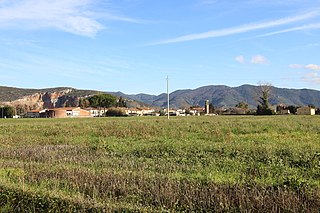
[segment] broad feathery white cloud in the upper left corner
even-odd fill
[[[105,27],[98,21],[94,0],[1,0],[0,28],[53,28],[93,37]],[[138,22],[104,11],[108,20]]]

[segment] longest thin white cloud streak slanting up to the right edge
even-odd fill
[[[204,33],[189,34],[189,35],[180,36],[177,38],[172,38],[172,39],[168,39],[168,40],[155,42],[155,43],[153,43],[153,45],[170,44],[170,43],[186,42],[186,41],[193,41],[193,40],[199,40],[199,39],[230,36],[230,35],[234,35],[234,34],[245,33],[245,32],[250,32],[250,31],[254,31],[254,30],[272,28],[272,27],[276,27],[276,26],[299,22],[299,21],[303,21],[306,19],[311,19],[311,18],[317,17],[319,15],[320,15],[320,11],[318,9],[318,10],[314,10],[314,11],[300,14],[297,16],[276,19],[276,20],[272,20],[272,21],[268,21],[268,22],[241,25],[241,26],[232,27],[232,28],[225,28],[225,29],[220,29],[220,30],[208,31],[208,32],[204,32]]]

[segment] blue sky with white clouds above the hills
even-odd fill
[[[0,0],[0,85],[320,90],[320,0]]]

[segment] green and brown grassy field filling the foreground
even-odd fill
[[[319,116],[0,120],[2,212],[319,209]]]

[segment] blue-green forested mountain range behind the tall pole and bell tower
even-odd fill
[[[216,107],[234,107],[239,102],[248,103],[249,107],[256,108],[257,100],[261,94],[260,86],[242,85],[228,87],[224,85],[204,86],[197,89],[177,90],[170,94],[170,106],[183,108],[195,105],[204,106],[209,100]],[[124,97],[143,101],[152,106],[166,107],[167,95],[158,96],[138,94],[125,95]],[[315,105],[320,106],[320,91],[311,89],[286,89],[271,87],[270,103],[272,105],[285,104],[295,106]]]

